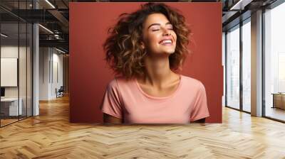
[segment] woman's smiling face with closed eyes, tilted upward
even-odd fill
[[[162,13],[147,16],[142,27],[142,48],[147,53],[175,53],[177,35],[173,26]]]

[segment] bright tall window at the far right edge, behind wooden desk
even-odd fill
[[[285,3],[264,13],[265,116],[285,121]]]

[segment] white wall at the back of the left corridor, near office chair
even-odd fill
[[[63,85],[63,55],[54,48],[40,48],[39,52],[39,99],[55,99],[56,88]]]

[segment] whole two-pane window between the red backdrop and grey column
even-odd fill
[[[226,35],[226,106],[251,111],[251,18]],[[241,39],[242,38],[242,39]],[[240,40],[241,39],[241,40]],[[242,49],[242,50],[241,50]],[[242,55],[242,56],[241,56]],[[241,65],[242,64],[242,65]],[[242,73],[242,74],[241,74]],[[242,87],[241,87],[242,86]]]

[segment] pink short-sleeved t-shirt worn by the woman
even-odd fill
[[[136,79],[115,77],[100,109],[129,124],[187,124],[209,116],[204,85],[184,75],[168,97],[152,97],[142,91]]]

